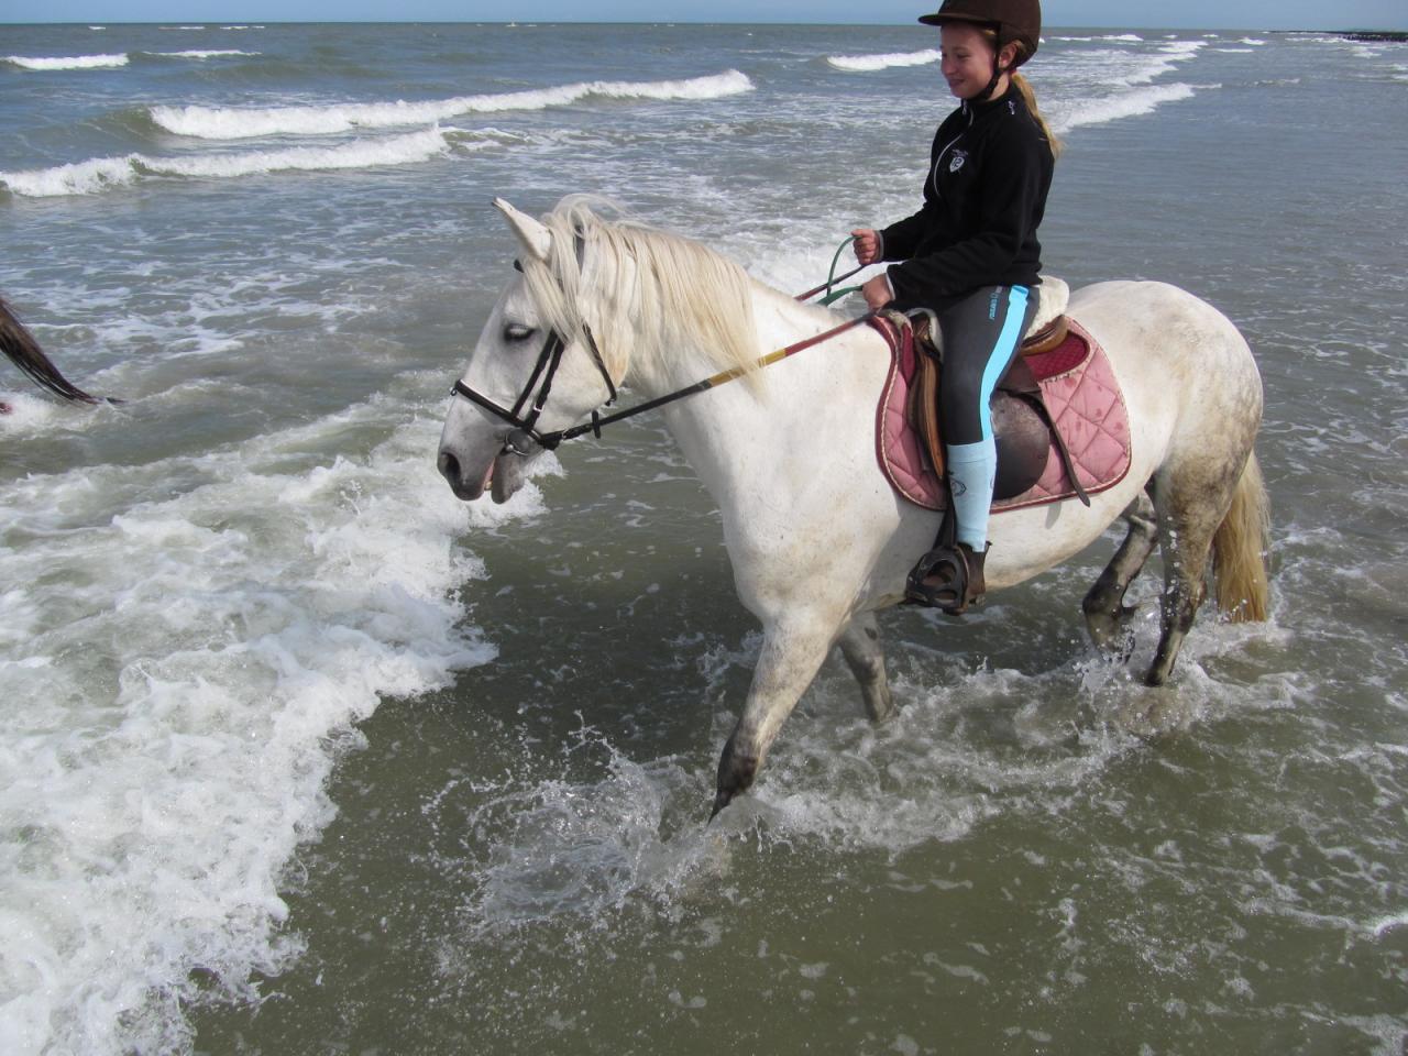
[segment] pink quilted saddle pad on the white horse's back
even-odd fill
[[[872,325],[890,344],[890,376],[876,414],[876,455],[894,489],[917,505],[942,510],[943,486],[928,466],[919,439],[905,421],[910,379],[914,377],[914,332],[877,317]],[[1076,474],[1088,494],[1114,487],[1129,472],[1129,413],[1124,394],[1100,344],[1074,320],[1062,345],[1028,365],[1042,387],[1042,397],[1070,451]],[[1026,491],[993,504],[993,513],[1021,510],[1070,498],[1076,494],[1055,446],[1046,452],[1046,469]]]

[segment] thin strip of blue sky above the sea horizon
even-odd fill
[[[912,24],[938,0],[0,0],[0,23],[677,21]],[[1408,0],[1046,0],[1048,25],[1408,30]]]

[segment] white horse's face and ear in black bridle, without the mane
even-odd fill
[[[614,398],[615,383],[583,317],[580,230],[549,228],[503,199],[494,204],[520,258],[455,386],[463,398],[445,420],[436,466],[459,498],[491,487],[504,503],[556,434]]]

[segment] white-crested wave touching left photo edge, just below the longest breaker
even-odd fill
[[[63,194],[100,194],[135,183],[142,176],[187,176],[230,179],[270,172],[370,169],[383,165],[411,165],[429,161],[449,151],[446,132],[438,127],[406,135],[356,139],[338,146],[290,146],[282,151],[245,151],[238,153],[196,153],[179,158],[155,158],[128,153],[117,158],[90,158],[52,169],[0,172],[0,183],[25,197]]]

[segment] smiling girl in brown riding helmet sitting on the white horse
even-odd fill
[[[1059,145],[1015,72],[1036,54],[1039,0],[943,0],[919,21],[941,30],[943,77],[959,108],[934,137],[919,211],[852,235],[860,263],[897,262],[862,287],[872,308],[938,315],[957,546],[925,555],[910,596],[962,612],[986,589],[997,467],[988,400],[1036,310],[1036,228]]]

